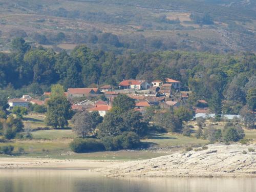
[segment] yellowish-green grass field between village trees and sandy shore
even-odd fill
[[[24,124],[32,129],[45,127],[45,115],[29,114],[25,116]],[[191,127],[191,137],[185,137],[181,134],[151,134],[147,139],[141,140],[144,143],[150,144],[154,149],[149,148],[145,150],[123,150],[116,152],[95,152],[95,153],[73,153],[69,147],[69,143],[76,137],[76,134],[71,129],[62,130],[40,130],[32,131],[32,140],[12,140],[7,143],[0,143],[3,145],[13,145],[14,152],[12,157],[34,157],[34,158],[60,158],[60,159],[88,159],[88,160],[136,160],[149,159],[174,153],[175,151],[183,151],[186,146],[200,146],[209,143],[208,140],[196,139],[195,132],[197,130],[196,122],[188,123]],[[212,124],[206,121],[206,125]],[[214,127],[223,129],[225,122],[215,123]],[[245,129],[247,139],[252,142],[256,141],[256,130]],[[15,155],[19,147],[23,147],[25,154]],[[157,150],[155,149],[157,148]],[[0,157],[7,157],[7,155],[0,154]]]

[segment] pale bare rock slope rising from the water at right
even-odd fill
[[[249,152],[249,148],[256,151],[255,144],[210,144],[201,147],[200,151],[130,161],[96,170],[110,177],[256,177],[256,152]]]

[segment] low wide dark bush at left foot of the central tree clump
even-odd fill
[[[97,139],[87,138],[75,138],[70,143],[70,148],[76,153],[88,153],[104,151],[104,145]]]

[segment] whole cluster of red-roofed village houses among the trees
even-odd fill
[[[161,109],[179,106],[186,103],[189,92],[181,91],[182,85],[178,80],[166,78],[164,81],[154,80],[151,83],[145,80],[123,80],[118,87],[105,85],[100,88],[69,88],[65,92],[65,97],[71,102],[74,111],[98,111],[100,116],[104,117],[112,108],[112,102],[119,94],[126,94],[136,101],[135,110],[144,113],[147,106],[158,105]],[[91,101],[88,97],[93,98],[104,95],[105,100],[98,99]],[[14,106],[23,106],[28,108],[29,103],[44,105],[51,96],[50,92],[44,93],[44,100],[32,98],[29,95],[23,95],[22,98],[9,99],[9,109]],[[83,99],[84,98],[84,99]],[[198,100],[198,107],[194,108],[197,113],[209,113],[207,102]]]

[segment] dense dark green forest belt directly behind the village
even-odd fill
[[[6,97],[40,95],[50,85],[65,89],[117,84],[123,79],[182,82],[191,100],[217,99],[224,113],[238,114],[256,87],[256,55],[210,54],[182,51],[126,53],[76,47],[70,54],[31,47],[23,38],[12,41],[12,53],[0,53],[0,87]],[[14,91],[16,90],[16,91]],[[219,103],[220,103],[219,102]],[[220,103],[221,104],[221,103]]]

